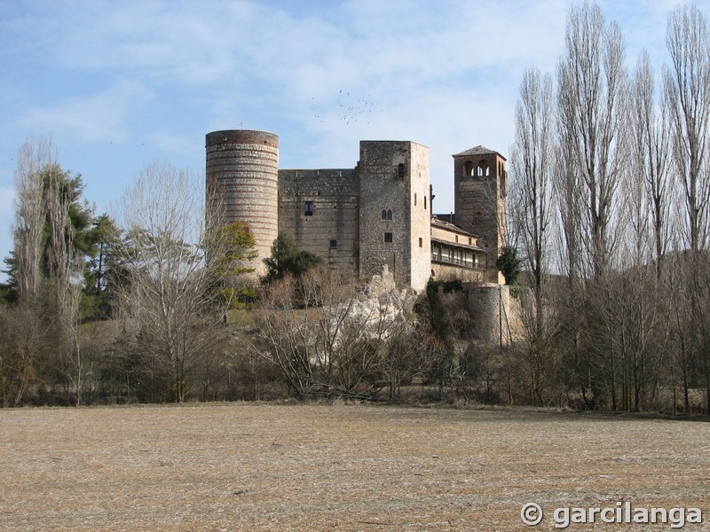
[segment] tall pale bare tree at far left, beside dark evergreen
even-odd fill
[[[78,316],[83,256],[75,246],[72,209],[82,192],[81,177],[63,171],[50,139],[20,148],[15,174],[17,208],[14,276],[20,309],[34,312],[51,336],[52,366],[65,383],[67,397],[81,401],[82,368]],[[75,208],[90,215],[90,207]],[[46,362],[46,361],[45,361]],[[71,385],[69,384],[71,383]]]

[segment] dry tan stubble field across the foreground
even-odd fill
[[[627,500],[707,523],[708,436],[703,422],[343,403],[4,410],[0,530],[509,531],[531,529],[526,502],[550,530],[558,506]]]

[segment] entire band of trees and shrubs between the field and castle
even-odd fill
[[[458,283],[414,296],[282,234],[256,257],[204,184],[148,166],[113,216],[51,143],[20,149],[0,305],[4,406],[296,397],[710,411],[710,35],[671,12],[669,62],[627,71],[596,4],[556,73],[525,72],[496,345]],[[491,201],[494,205],[496,202]],[[209,216],[206,216],[206,210]],[[265,278],[256,261],[268,267]]]

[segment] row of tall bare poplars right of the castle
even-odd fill
[[[555,74],[525,72],[509,245],[524,260],[532,403],[710,413],[710,35],[668,16],[668,62],[596,4],[572,8]]]

